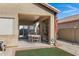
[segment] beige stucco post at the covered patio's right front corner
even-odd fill
[[[54,15],[52,15],[50,17],[49,20],[49,40],[50,40],[50,45],[54,45],[55,44],[55,33],[54,33]]]

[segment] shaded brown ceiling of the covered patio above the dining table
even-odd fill
[[[19,24],[21,25],[32,25],[37,20],[45,20],[48,19],[48,16],[39,16],[39,15],[26,15],[26,14],[18,14]]]

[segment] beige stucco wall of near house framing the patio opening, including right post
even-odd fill
[[[14,19],[14,34],[0,35],[0,40],[4,40],[8,46],[17,46],[18,42],[18,13],[34,14],[34,15],[48,15],[50,18],[50,34],[51,39],[54,39],[54,16],[35,4],[0,4],[0,17],[12,17]]]

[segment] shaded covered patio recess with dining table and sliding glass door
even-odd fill
[[[48,15],[18,14],[19,36],[18,39],[25,45],[30,43],[49,44],[49,19]],[[27,44],[28,43],[28,44]]]

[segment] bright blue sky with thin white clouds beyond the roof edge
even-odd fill
[[[58,19],[79,14],[79,3],[49,3],[54,6],[60,13],[57,14]]]

